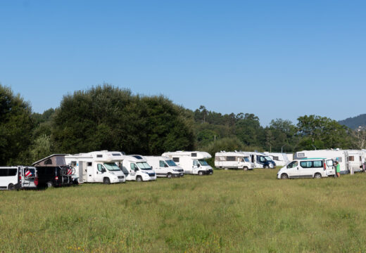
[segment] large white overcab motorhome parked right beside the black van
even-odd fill
[[[79,183],[125,182],[125,174],[118,167],[122,160],[122,153],[108,150],[65,155],[65,162],[75,169]]]

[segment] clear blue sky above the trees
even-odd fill
[[[34,112],[104,82],[265,125],[366,113],[366,1],[0,1],[0,83]]]

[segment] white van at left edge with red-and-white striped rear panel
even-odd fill
[[[37,188],[37,169],[34,167],[0,167],[0,189]]]

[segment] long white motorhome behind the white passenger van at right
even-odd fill
[[[363,170],[365,155],[362,150],[303,150],[294,154],[294,160],[303,158],[327,158],[339,162],[341,174],[348,174]]]

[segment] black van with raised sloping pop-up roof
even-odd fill
[[[70,186],[73,183],[72,168],[66,164],[65,155],[50,155],[32,166],[37,168],[38,187]]]

